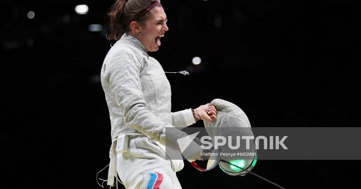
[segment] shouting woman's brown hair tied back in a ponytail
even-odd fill
[[[108,13],[110,18],[110,32],[106,35],[106,39],[118,40],[124,33],[130,32],[130,24],[126,24],[129,21],[136,21],[140,26],[144,26],[145,21],[151,17],[152,10],[143,14],[138,19],[134,19],[138,14],[156,2],[156,0],[116,0]],[[162,7],[161,4],[157,6]]]

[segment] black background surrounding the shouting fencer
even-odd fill
[[[2,188],[100,188],[111,143],[100,69],[115,42],[105,39],[112,3],[2,3]],[[150,55],[165,71],[190,72],[167,74],[172,111],[221,98],[253,127],[360,126],[360,1],[161,3],[169,31]],[[88,14],[75,13],[79,4]],[[259,160],[252,171],[284,188],[357,188],[360,168],[359,160]],[[177,176],[183,188],[276,188],[187,162]]]

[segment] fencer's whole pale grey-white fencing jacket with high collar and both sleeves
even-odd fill
[[[142,132],[163,145],[168,136],[167,146],[179,148],[174,139],[186,133],[167,135],[164,128],[187,127],[195,121],[190,110],[171,112],[169,81],[140,40],[125,33],[106,55],[100,76],[113,141],[121,134]]]

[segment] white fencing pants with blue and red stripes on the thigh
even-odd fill
[[[183,160],[166,159],[165,146],[145,135],[127,134],[127,152],[117,154],[117,172],[126,189],[181,189],[175,172]]]

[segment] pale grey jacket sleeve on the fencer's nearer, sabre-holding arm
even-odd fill
[[[177,139],[187,136],[187,134],[178,129],[167,133],[165,127],[173,126],[166,125],[147,109],[140,82],[141,69],[142,64],[135,55],[122,51],[113,55],[107,63],[104,78],[109,84],[110,91],[116,99],[128,127],[142,132],[163,145],[179,150]]]

